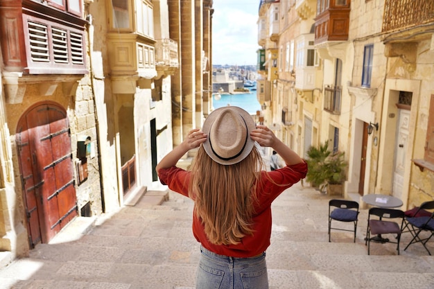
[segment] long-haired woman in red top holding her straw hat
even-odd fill
[[[266,172],[255,141],[286,162]],[[177,161],[199,148],[189,171]],[[268,288],[271,203],[307,173],[307,165],[240,107],[211,112],[156,168],[162,184],[194,200],[193,234],[201,258],[196,288]]]

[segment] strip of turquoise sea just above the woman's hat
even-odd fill
[[[257,100],[257,91],[251,90],[247,94],[222,94],[220,100],[216,100],[213,95],[213,107],[217,109],[227,105],[235,105],[243,108],[249,114],[256,114],[257,110],[261,110],[261,104]]]

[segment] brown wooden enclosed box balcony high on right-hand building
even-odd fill
[[[329,41],[347,41],[350,10],[349,0],[330,0],[329,8],[320,10],[315,17],[315,45]]]

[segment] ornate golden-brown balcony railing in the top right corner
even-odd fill
[[[385,0],[383,32],[434,21],[434,1]]]

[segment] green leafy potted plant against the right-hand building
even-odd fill
[[[342,195],[347,166],[344,153],[333,154],[329,150],[329,142],[325,141],[318,148],[311,146],[307,151],[307,156],[306,181],[322,193],[327,191],[329,195]]]

